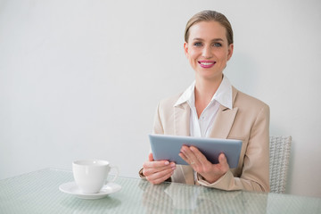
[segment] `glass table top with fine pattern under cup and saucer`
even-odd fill
[[[121,190],[102,199],[79,199],[59,186],[72,172],[43,169],[0,181],[0,213],[321,213],[321,198],[226,192],[198,185],[152,185],[119,177]]]

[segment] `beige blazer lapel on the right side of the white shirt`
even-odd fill
[[[233,106],[235,103],[235,98],[237,95],[237,90],[235,87],[232,87],[232,99]],[[210,132],[210,137],[213,138],[227,138],[233,123],[235,121],[235,116],[237,114],[238,107],[233,108],[232,110],[226,108],[223,105],[219,106],[218,114],[213,124],[213,128]]]

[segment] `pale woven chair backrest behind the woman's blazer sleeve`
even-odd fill
[[[271,193],[284,193],[292,136],[270,136],[269,180]]]

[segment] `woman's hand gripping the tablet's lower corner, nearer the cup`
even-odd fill
[[[152,153],[148,155],[148,161],[143,164],[143,174],[153,185],[158,185],[173,175],[176,169],[175,162],[153,161]]]

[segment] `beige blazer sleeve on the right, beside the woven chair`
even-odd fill
[[[269,108],[264,105],[251,128],[248,146],[243,157],[241,177],[227,171],[218,181],[210,184],[198,175],[200,185],[223,190],[269,192]]]

